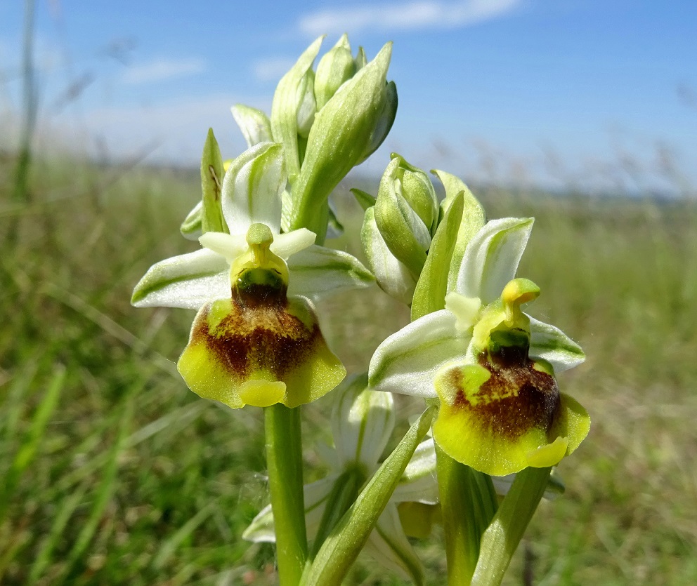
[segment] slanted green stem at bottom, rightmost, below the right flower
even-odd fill
[[[545,493],[552,468],[526,468],[516,475],[489,528],[481,539],[472,585],[498,586],[523,533]],[[445,514],[443,514],[445,517]]]

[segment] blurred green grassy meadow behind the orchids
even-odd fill
[[[196,248],[178,225],[197,175],[54,158],[22,204],[14,166],[0,162],[0,582],[273,583],[272,548],[240,538],[267,498],[260,411],[186,389],[174,363],[191,312],[129,305],[152,262]],[[490,218],[535,216],[530,313],[588,357],[560,384],[591,433],[506,583],[697,583],[696,203],[473,187]],[[348,235],[330,244],[360,256],[359,208],[336,201]],[[320,311],[349,371],[408,321],[377,288]],[[402,420],[419,407],[398,404]],[[305,409],[308,479],[329,413],[330,397]],[[443,584],[438,528],[416,545]],[[403,582],[361,559],[347,583]]]

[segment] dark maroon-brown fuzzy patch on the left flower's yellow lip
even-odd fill
[[[195,321],[191,341],[204,343],[237,379],[248,378],[259,369],[268,370],[282,380],[285,373],[304,364],[323,340],[315,321],[308,329],[288,311],[285,291],[280,298],[276,288],[255,285],[243,294],[233,295],[230,313],[209,331],[209,311]]]

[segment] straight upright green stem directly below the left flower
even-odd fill
[[[264,408],[266,465],[281,586],[297,586],[307,559],[300,408]]]

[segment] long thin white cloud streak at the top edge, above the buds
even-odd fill
[[[423,0],[396,4],[376,4],[324,10],[299,20],[302,32],[337,34],[373,29],[456,28],[474,25],[512,11],[521,0],[461,0],[441,2]]]

